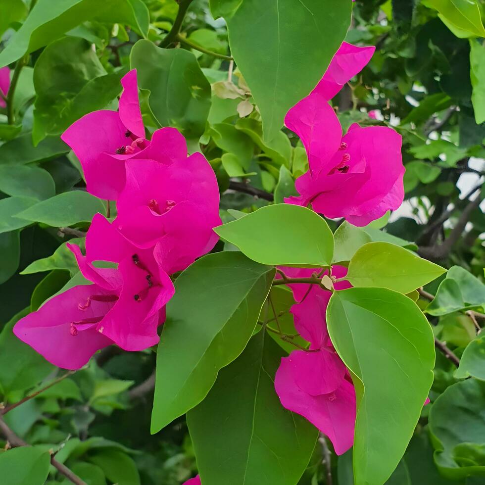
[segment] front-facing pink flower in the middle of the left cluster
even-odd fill
[[[214,171],[201,153],[187,157],[184,138],[174,132],[157,130],[150,145],[126,161],[113,222],[138,247],[157,243],[155,254],[169,274],[212,249],[218,240],[212,228],[221,224]]]

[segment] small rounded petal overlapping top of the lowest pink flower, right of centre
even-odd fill
[[[288,362],[296,385],[312,396],[334,392],[345,378],[346,368],[333,349],[294,350]]]

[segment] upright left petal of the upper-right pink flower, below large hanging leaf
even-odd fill
[[[317,174],[340,147],[342,128],[339,118],[325,97],[318,93],[296,103],[288,111],[285,125],[305,146],[312,175]]]

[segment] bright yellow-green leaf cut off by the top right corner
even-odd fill
[[[477,0],[427,0],[439,12],[441,20],[479,37],[485,37]]]

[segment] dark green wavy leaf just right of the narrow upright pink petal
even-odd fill
[[[131,49],[130,64],[138,85],[149,91],[148,104],[160,126],[178,128],[186,138],[199,138],[210,109],[210,84],[192,52],[162,49],[140,40]]]

